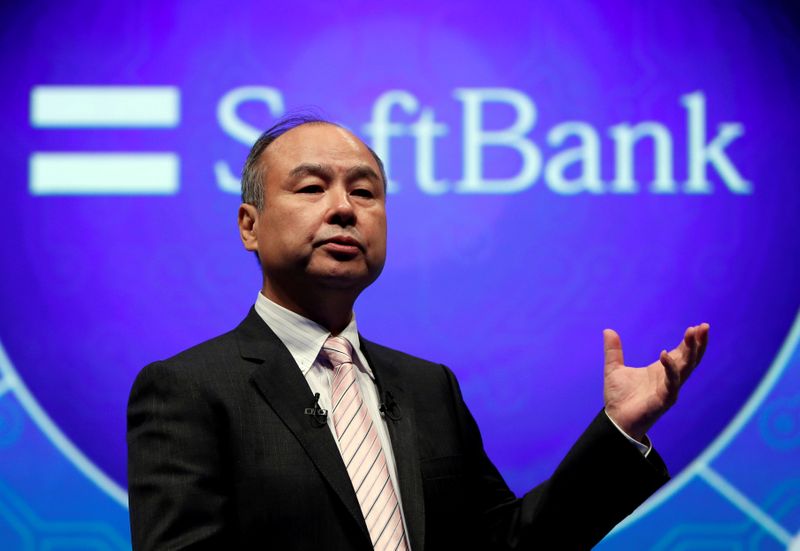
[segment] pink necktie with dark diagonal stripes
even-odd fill
[[[343,337],[330,337],[322,351],[333,367],[333,425],[372,546],[381,551],[407,550],[386,457],[356,382],[353,346]]]

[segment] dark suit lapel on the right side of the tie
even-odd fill
[[[390,392],[400,418],[393,420],[387,416],[386,425],[392,440],[394,460],[397,465],[397,478],[400,485],[400,499],[408,527],[411,549],[423,551],[425,544],[425,500],[422,489],[422,474],[417,451],[416,425],[414,423],[413,396],[406,393],[402,374],[391,356],[381,348],[361,337],[361,351],[367,358],[378,389]],[[381,401],[384,396],[381,396]]]

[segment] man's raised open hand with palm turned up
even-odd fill
[[[707,323],[689,327],[680,344],[647,367],[627,367],[622,341],[613,329],[603,331],[606,413],[631,438],[645,433],[678,399],[681,386],[700,363],[708,343]]]

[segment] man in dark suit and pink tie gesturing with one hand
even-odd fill
[[[604,411],[516,498],[453,374],[356,329],[386,255],[385,182],[327,122],[287,119],[253,146],[239,232],[263,286],[236,329],[134,383],[135,549],[587,549],[667,480],[645,433],[708,325],[639,369],[606,330]]]

